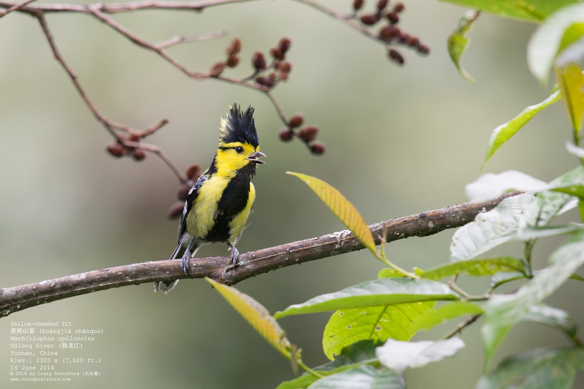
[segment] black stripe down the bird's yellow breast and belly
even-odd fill
[[[246,166],[231,178],[217,204],[215,225],[207,233],[205,241],[227,242],[230,237],[229,224],[235,216],[245,209],[249,198],[249,183],[252,176],[252,167]]]

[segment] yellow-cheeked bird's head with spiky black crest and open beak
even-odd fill
[[[237,104],[233,104],[227,119],[221,118],[219,131],[219,149],[215,156],[218,167],[238,171],[249,166],[253,174],[256,164],[265,163],[259,159],[266,155],[259,151],[252,107],[242,112]]]

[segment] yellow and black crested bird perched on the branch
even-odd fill
[[[238,265],[235,248],[256,198],[252,177],[256,166],[265,161],[259,150],[258,132],[253,120],[254,108],[242,111],[230,106],[227,118],[221,118],[219,146],[213,162],[193,184],[187,195],[179,222],[178,244],[169,260],[178,258],[186,245],[180,266],[188,275],[189,262],[205,243],[224,243],[231,248],[231,266]],[[179,280],[157,281],[154,291],[170,292]]]

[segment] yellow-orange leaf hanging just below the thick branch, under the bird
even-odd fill
[[[223,285],[207,277],[205,279],[270,345],[286,358],[291,359],[290,341],[262,304],[231,286]]]

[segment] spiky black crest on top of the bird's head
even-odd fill
[[[237,104],[230,107],[227,120],[221,118],[219,143],[242,142],[254,147],[259,146],[258,132],[253,122],[253,108],[248,107],[245,112]]]

